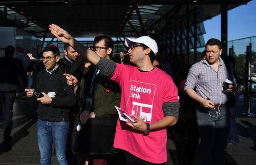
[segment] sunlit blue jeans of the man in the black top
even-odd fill
[[[66,158],[68,133],[68,121],[37,121],[37,142],[41,165],[51,165],[52,143],[54,144],[58,165],[68,165]]]

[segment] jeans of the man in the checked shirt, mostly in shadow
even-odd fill
[[[229,133],[229,114],[226,107],[218,109],[197,108],[197,123],[201,142],[194,157],[195,165],[203,165],[212,153],[215,165],[224,165]]]

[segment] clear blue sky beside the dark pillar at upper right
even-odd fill
[[[256,36],[256,0],[228,11],[228,40]],[[221,15],[204,22],[205,42],[209,38],[221,39]]]

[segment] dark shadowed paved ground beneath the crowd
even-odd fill
[[[39,164],[39,151],[36,137],[36,109],[37,103],[26,96],[19,97],[15,101],[13,110],[13,131],[12,141],[3,142],[3,129],[0,129],[0,164]],[[242,115],[245,112],[244,98],[241,97],[237,110],[237,123],[240,143],[229,145],[227,151],[226,165],[254,165],[256,164],[256,118]],[[251,112],[256,114],[256,98],[252,98]],[[3,127],[0,117],[0,128]],[[176,143],[182,148],[184,142]],[[185,152],[179,153],[174,145],[174,141],[167,141],[168,162],[167,165],[181,165],[188,159]],[[53,154],[52,164],[57,164]],[[211,160],[207,165],[210,165]],[[190,164],[190,163],[185,163]]]

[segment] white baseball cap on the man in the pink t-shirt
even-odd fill
[[[146,45],[148,48],[150,48],[155,53],[155,55],[158,52],[157,43],[155,42],[154,39],[152,39],[149,36],[141,36],[141,37],[136,38],[136,39],[125,38],[125,45],[127,47],[131,48],[132,43],[139,43],[139,44]]]

